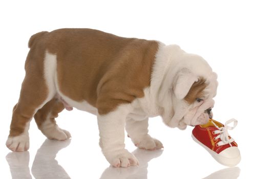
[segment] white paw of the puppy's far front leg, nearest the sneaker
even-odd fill
[[[158,150],[163,148],[163,144],[150,135],[145,136],[140,142],[136,143],[135,146],[145,150]]]

